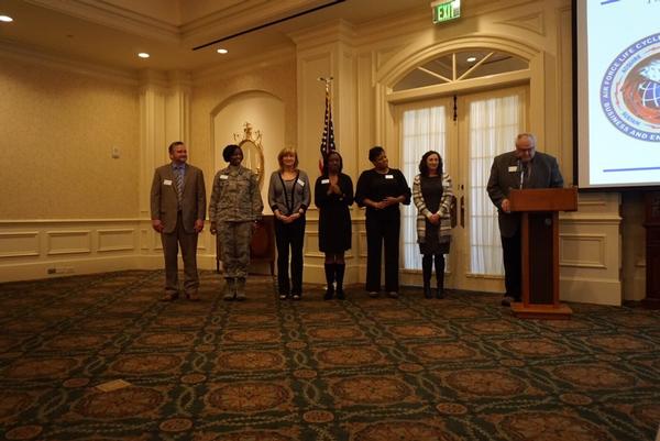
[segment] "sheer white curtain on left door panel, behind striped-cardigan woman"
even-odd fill
[[[413,179],[419,173],[421,156],[435,150],[447,163],[446,133],[447,123],[444,107],[406,110],[402,124],[402,172],[413,188]],[[403,255],[405,269],[421,269],[421,255],[417,244],[417,208],[415,203],[403,209],[402,235],[404,240]]]

